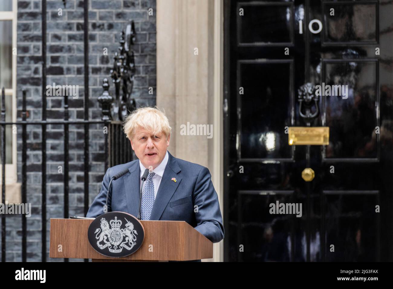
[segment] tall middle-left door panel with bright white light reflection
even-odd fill
[[[246,87],[238,96],[239,159],[291,159],[281,131],[291,119],[292,61],[242,60],[237,71],[238,87]]]

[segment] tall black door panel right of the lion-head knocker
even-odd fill
[[[322,59],[322,66],[325,84],[348,85],[347,99],[322,98],[323,125],[329,126],[331,133],[325,158],[377,161],[378,62],[376,59]]]

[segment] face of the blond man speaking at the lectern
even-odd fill
[[[142,165],[146,169],[152,166],[154,170],[165,157],[170,137],[169,134],[167,139],[163,132],[154,135],[144,128],[138,128],[130,142]]]

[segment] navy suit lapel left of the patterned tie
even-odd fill
[[[139,195],[140,195],[140,166],[139,161],[129,168],[130,174],[124,176],[124,192],[128,212],[138,217]]]

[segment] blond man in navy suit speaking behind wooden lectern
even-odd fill
[[[141,177],[149,169],[143,184],[142,220],[181,220],[213,243],[224,239],[219,200],[210,172],[167,151],[171,127],[165,113],[154,107],[141,107],[127,117],[124,132],[139,160],[107,170],[101,191],[86,217],[104,213],[109,181],[124,169],[129,172],[112,181],[108,211],[138,216]]]

